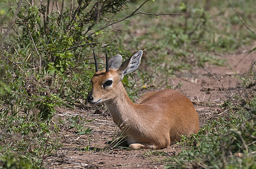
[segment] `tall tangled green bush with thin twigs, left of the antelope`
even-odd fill
[[[56,106],[86,100],[95,72],[92,48],[117,48],[108,39],[100,40],[108,33],[101,28],[127,1],[67,2],[0,2],[11,11],[0,48],[3,167],[39,167],[45,154],[56,152],[61,144],[49,129]],[[91,129],[79,132],[89,134]]]

